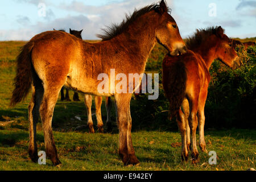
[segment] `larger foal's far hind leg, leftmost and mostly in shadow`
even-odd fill
[[[36,145],[36,123],[39,118],[39,107],[43,98],[43,85],[39,79],[33,79],[32,84],[32,98],[28,105],[28,121],[30,123],[30,143],[28,146],[28,154],[30,159],[38,162],[38,147]]]

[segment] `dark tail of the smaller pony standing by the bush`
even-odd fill
[[[180,106],[185,97],[185,90],[187,85],[187,69],[185,64],[181,61],[174,63],[169,71],[168,75],[168,100],[169,106],[169,118],[173,118],[177,115]]]

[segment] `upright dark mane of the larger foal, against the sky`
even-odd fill
[[[164,2],[166,3],[166,2]],[[97,34],[98,38],[101,38],[102,41],[110,40],[114,38],[115,36],[121,34],[123,31],[127,30],[129,25],[133,23],[135,20],[137,20],[140,16],[149,13],[150,11],[156,11],[159,12],[159,3],[154,3],[152,5],[143,7],[142,9],[135,9],[133,14],[125,15],[125,19],[123,19],[122,23],[115,24],[113,23],[111,26],[106,26],[106,28],[102,28],[103,34]],[[167,7],[167,6],[166,6]],[[169,13],[171,12],[171,9],[167,7],[166,11]]]

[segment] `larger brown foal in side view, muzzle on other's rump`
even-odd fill
[[[125,165],[138,164],[131,142],[131,114],[127,82],[127,93],[112,92],[119,81],[109,84],[108,93],[98,91],[98,75],[110,77],[123,73],[141,74],[148,55],[156,42],[163,44],[171,55],[185,53],[187,48],[181,39],[179,28],[168,13],[164,1],[135,10],[119,25],[114,24],[98,35],[102,42],[88,43],[76,36],[61,32],[47,31],[34,36],[17,57],[18,67],[11,105],[27,96],[32,85],[32,98],[28,106],[30,122],[30,144],[28,152],[38,162],[36,146],[36,122],[42,120],[46,154],[54,166],[61,164],[53,140],[53,110],[63,85],[81,93],[95,96],[114,96],[119,127],[119,156]],[[104,87],[105,88],[105,87]],[[134,88],[134,87],[133,87]]]

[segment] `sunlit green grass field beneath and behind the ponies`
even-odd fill
[[[117,128],[112,134],[89,134],[88,129],[75,128],[86,123],[83,102],[61,102],[53,116],[53,130],[61,168],[52,167],[51,161],[40,166],[28,158],[27,105],[31,95],[14,108],[9,107],[15,57],[24,42],[0,42],[0,170],[246,170],[255,168],[256,130],[208,130],[205,141],[208,151],[217,152],[217,165],[210,165],[210,156],[201,151],[200,162],[182,163],[180,160],[180,134],[173,131],[146,131],[133,129],[133,144],[141,162],[138,167],[124,167],[118,157]],[[156,50],[159,47],[156,48]],[[151,55],[155,57],[155,55]],[[72,93],[70,93],[72,96]],[[82,95],[80,94],[80,98]],[[131,107],[136,102],[131,101]],[[94,109],[93,109],[94,112]],[[115,119],[114,108],[112,119]],[[81,118],[76,119],[75,116]],[[106,121],[105,106],[102,117]],[[94,124],[96,117],[93,115]],[[139,122],[139,121],[134,121]],[[242,122],[242,121],[241,121]],[[38,123],[38,147],[44,150],[41,123]],[[198,137],[197,137],[198,138]]]

